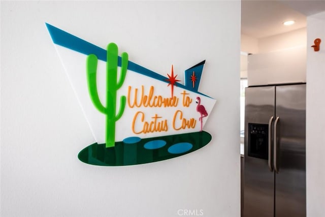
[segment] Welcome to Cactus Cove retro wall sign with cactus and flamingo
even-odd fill
[[[203,127],[215,100],[198,91],[205,61],[179,83],[46,23],[96,143],[81,150],[87,164],[122,166],[175,158],[207,145]],[[133,55],[133,54],[132,54]]]

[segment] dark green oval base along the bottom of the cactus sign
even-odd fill
[[[105,144],[91,144],[82,149],[78,158],[80,161],[98,166],[126,166],[146,164],[156,161],[163,161],[176,158],[184,154],[193,152],[207,145],[211,141],[211,135],[205,131],[195,133],[185,133],[171,136],[161,136],[141,139],[137,143],[127,144],[115,142],[114,147],[106,148]],[[166,145],[157,149],[146,149],[144,144],[153,140],[164,140]],[[168,152],[168,148],[178,143],[190,143],[192,148],[183,153],[173,154]]]

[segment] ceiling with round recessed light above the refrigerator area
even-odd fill
[[[242,0],[241,33],[264,38],[306,27],[306,16],[325,11],[325,0],[318,1],[250,1]],[[291,26],[286,20],[295,20]]]

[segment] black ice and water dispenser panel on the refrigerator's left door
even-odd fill
[[[248,156],[268,160],[269,126],[248,123]]]

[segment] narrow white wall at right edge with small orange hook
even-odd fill
[[[325,213],[325,12],[307,17],[307,216]],[[321,39],[320,51],[312,46]]]

